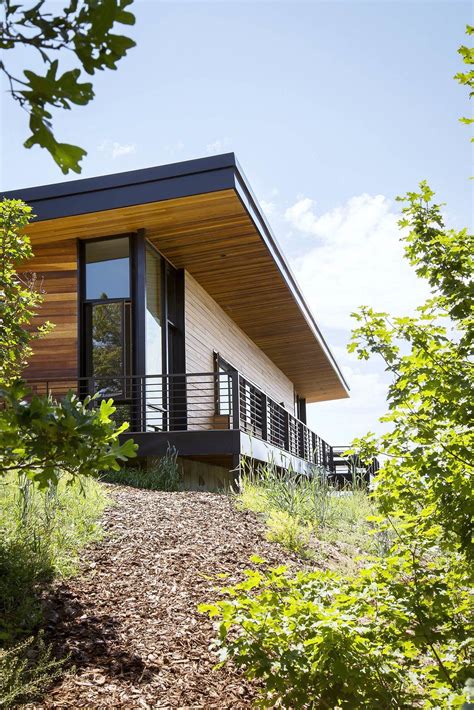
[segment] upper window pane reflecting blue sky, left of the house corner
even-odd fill
[[[86,242],[86,299],[130,298],[128,237]]]

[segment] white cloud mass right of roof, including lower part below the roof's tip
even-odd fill
[[[285,211],[292,267],[350,387],[349,399],[308,409],[311,428],[333,445],[385,428],[378,419],[387,411],[389,378],[377,358],[358,361],[347,353],[350,313],[360,305],[410,313],[428,294],[404,258],[398,219],[383,195],[352,197],[323,213],[301,197]]]

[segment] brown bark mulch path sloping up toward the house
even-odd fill
[[[251,707],[255,687],[231,666],[213,670],[214,630],[197,605],[216,597],[210,576],[241,579],[252,554],[296,560],[224,495],[112,490],[106,539],[45,599],[47,635],[75,671],[30,707]]]

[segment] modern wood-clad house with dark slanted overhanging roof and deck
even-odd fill
[[[334,471],[306,404],[348,396],[233,153],[17,190],[44,281],[26,378],[100,392],[139,454],[174,446],[201,485],[240,457]]]

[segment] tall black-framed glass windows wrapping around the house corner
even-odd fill
[[[140,431],[185,428],[182,273],[141,234],[83,242],[81,266],[85,391],[112,396]]]

